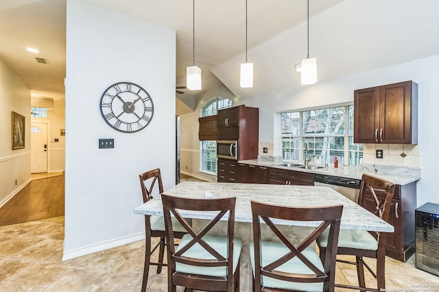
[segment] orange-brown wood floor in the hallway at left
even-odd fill
[[[64,175],[28,183],[0,208],[0,226],[64,215]]]

